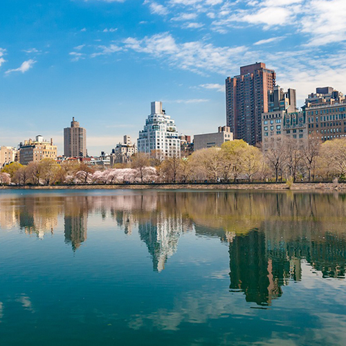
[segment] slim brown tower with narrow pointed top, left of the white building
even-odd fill
[[[86,157],[86,129],[72,118],[71,127],[64,129],[64,156]]]

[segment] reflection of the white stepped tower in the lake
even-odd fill
[[[162,271],[167,258],[176,253],[182,229],[180,217],[161,215],[138,225],[140,239],[145,242],[152,256],[154,271]]]

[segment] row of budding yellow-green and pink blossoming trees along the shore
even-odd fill
[[[26,166],[10,163],[0,172],[0,185],[230,183],[237,181],[331,181],[346,175],[346,138],[303,142],[273,141],[261,150],[244,140],[164,158],[161,152],[137,153],[111,168],[50,158]]]

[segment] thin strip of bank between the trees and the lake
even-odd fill
[[[196,183],[196,184],[114,184],[114,185],[26,185],[0,186],[1,190],[264,190],[264,191],[311,191],[345,190],[346,183]]]

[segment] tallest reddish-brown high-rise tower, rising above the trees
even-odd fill
[[[262,141],[262,113],[268,111],[268,91],[274,90],[275,78],[275,71],[256,62],[226,79],[226,120],[235,139],[251,145]]]

